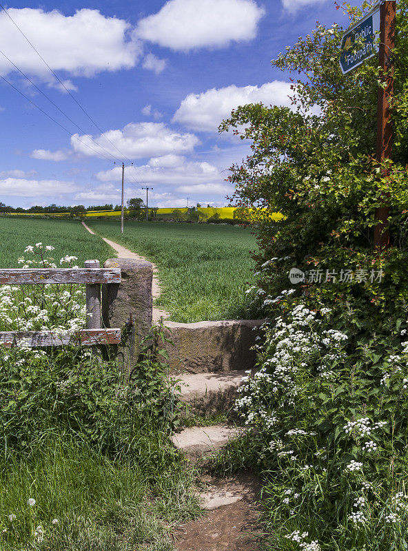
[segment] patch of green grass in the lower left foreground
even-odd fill
[[[147,444],[154,452],[153,435]],[[153,454],[141,463],[112,460],[85,441],[54,435],[29,459],[0,458],[1,551],[173,550],[172,525],[199,514],[191,479],[176,459],[164,469]]]

